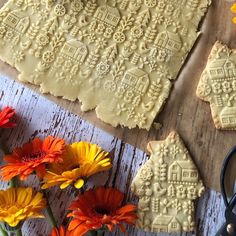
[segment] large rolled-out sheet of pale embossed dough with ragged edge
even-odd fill
[[[0,58],[113,126],[149,129],[210,0],[9,0]]]

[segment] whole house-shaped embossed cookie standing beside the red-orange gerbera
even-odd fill
[[[150,159],[131,184],[139,197],[137,227],[151,232],[193,231],[194,200],[204,186],[176,132],[148,144]]]

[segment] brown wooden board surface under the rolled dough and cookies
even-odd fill
[[[4,2],[6,1],[0,0],[0,6]],[[118,136],[124,142],[133,144],[142,150],[146,150],[148,141],[164,139],[170,131],[177,130],[199,167],[206,186],[219,190],[222,161],[227,151],[236,145],[236,131],[216,130],[209,104],[198,99],[195,94],[201,72],[206,65],[207,57],[215,41],[220,40],[228,46],[236,48],[236,25],[232,23],[233,14],[230,12],[232,3],[233,1],[230,0],[212,1],[207,16],[201,25],[203,33],[179,74],[163,112],[156,120],[156,122],[162,123],[161,130],[152,128],[148,132],[139,129],[113,128],[98,120],[95,112],[81,112],[79,102],[69,102],[50,95],[44,96],[90,121],[95,126]],[[17,80],[17,71],[3,62],[0,62],[0,72]],[[26,86],[38,91],[36,86]],[[230,172],[232,183],[236,177],[234,172],[232,165]]]

